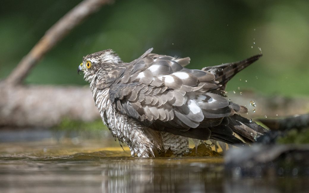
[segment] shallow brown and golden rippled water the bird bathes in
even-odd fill
[[[219,157],[130,157],[108,131],[0,130],[0,192],[307,192],[305,177],[235,177]]]

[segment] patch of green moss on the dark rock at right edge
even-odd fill
[[[277,139],[279,144],[306,144],[309,143],[309,129],[303,129],[298,131],[297,129],[292,129],[287,132],[284,136]]]

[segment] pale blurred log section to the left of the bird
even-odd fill
[[[93,121],[100,114],[88,86],[0,85],[0,126],[51,127],[63,119]]]

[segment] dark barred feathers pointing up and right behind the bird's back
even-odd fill
[[[259,55],[247,58],[246,60],[243,60],[243,61],[226,63],[222,65],[217,65],[217,66],[204,67],[202,68],[202,70],[213,73],[215,75],[216,81],[218,81],[219,84],[224,85],[231,78],[233,78],[233,76],[235,76],[236,73],[246,68],[253,62],[257,61],[261,56],[262,54],[259,54]]]

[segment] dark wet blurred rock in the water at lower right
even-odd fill
[[[309,145],[253,145],[226,152],[232,177],[308,176]]]

